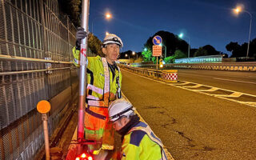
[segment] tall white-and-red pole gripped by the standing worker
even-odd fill
[[[82,1],[82,24],[81,26],[88,33],[90,0]],[[79,104],[78,104],[78,142],[84,139],[84,118],[85,118],[85,100],[86,100],[86,54],[88,37],[82,39],[80,49],[80,76],[79,76]],[[82,146],[78,145],[78,154],[82,152]]]

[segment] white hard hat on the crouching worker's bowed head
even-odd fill
[[[125,98],[115,100],[110,104],[109,117],[111,122],[117,121],[123,115],[129,116],[134,113],[134,107]]]

